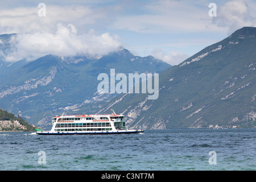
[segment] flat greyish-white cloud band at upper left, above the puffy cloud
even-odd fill
[[[40,8],[37,6],[1,10],[0,34],[53,32],[57,23],[62,23],[65,26],[72,23],[84,31],[98,21],[104,22],[109,11],[104,11],[102,8],[91,9],[89,6],[83,5],[46,5],[46,17],[40,17],[38,16],[39,10]]]

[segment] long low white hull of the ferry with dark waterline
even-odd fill
[[[39,131],[36,132],[38,135],[109,135],[109,134],[132,134],[132,133],[143,133],[143,130],[119,130],[119,131]]]

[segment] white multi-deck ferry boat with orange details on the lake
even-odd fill
[[[113,111],[113,110],[112,110]],[[94,114],[94,115],[61,115],[52,118],[50,131],[37,130],[39,135],[73,135],[73,134],[130,134],[143,133],[143,130],[128,130],[125,115]]]

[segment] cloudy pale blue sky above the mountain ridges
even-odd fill
[[[12,51],[0,52],[10,62],[49,53],[100,57],[124,47],[177,65],[239,28],[256,27],[254,0],[0,2],[0,34],[17,34]]]

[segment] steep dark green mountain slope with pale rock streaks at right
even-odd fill
[[[256,28],[243,27],[159,74],[159,97],[122,94],[114,109],[142,129],[255,127]]]

